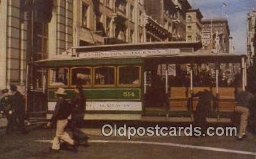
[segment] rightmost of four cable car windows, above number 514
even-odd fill
[[[118,75],[119,85],[140,85],[140,67],[118,67]]]

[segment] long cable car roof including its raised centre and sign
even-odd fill
[[[157,42],[139,44],[100,45],[72,48],[71,54],[56,55],[46,60],[34,62],[43,65],[47,62],[104,60],[104,59],[157,59],[165,62],[241,62],[242,57],[235,53],[212,53],[211,50],[199,50],[201,42]]]

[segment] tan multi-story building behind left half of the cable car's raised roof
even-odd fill
[[[74,45],[143,41],[143,0],[74,1]]]

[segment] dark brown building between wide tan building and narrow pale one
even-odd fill
[[[155,30],[159,30],[159,27],[155,26],[152,20],[149,19],[149,25],[146,26],[147,41],[150,41],[150,39],[151,41],[185,41],[186,13],[187,10],[190,8],[191,5],[187,0],[145,1],[145,13],[147,14],[147,16],[151,17],[155,21],[155,23],[159,24],[159,26],[162,26],[160,29],[160,32],[162,34],[157,34]],[[152,31],[152,27],[156,29]],[[162,39],[155,39],[156,34],[165,36],[162,36]]]

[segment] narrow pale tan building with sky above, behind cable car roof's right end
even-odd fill
[[[186,41],[201,40],[201,19],[203,15],[199,9],[189,9],[186,17]]]

